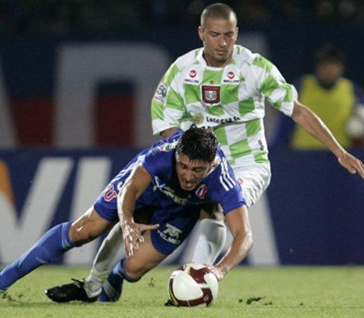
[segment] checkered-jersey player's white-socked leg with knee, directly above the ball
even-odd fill
[[[199,234],[191,262],[212,264],[221,253],[227,238],[227,228],[218,204],[204,205],[198,227]]]

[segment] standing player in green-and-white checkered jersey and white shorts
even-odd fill
[[[298,102],[295,87],[285,81],[278,68],[262,55],[236,45],[237,25],[237,15],[230,6],[217,3],[205,8],[198,27],[203,47],[177,58],[157,85],[151,105],[154,134],[167,137],[191,124],[213,129],[249,207],[270,182],[263,125],[267,99],[325,144],[349,173],[364,178],[362,162],[346,152],[319,117]],[[201,212],[200,235],[191,259],[195,263],[214,263],[225,243],[223,218],[209,212]],[[116,226],[97,253],[83,285],[88,295],[100,293],[120,237],[120,227]]]

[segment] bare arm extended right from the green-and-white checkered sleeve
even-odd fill
[[[326,144],[329,150],[334,153],[344,168],[350,174],[360,174],[364,179],[364,164],[349,154],[335,139],[329,128],[324,124],[317,114],[314,114],[307,106],[295,101],[295,108],[293,110],[292,119],[302,126],[308,134],[311,134],[318,139],[322,144]]]

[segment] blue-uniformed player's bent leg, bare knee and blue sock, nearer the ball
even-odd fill
[[[133,256],[116,263],[107,277],[99,296],[101,302],[116,302],[121,296],[125,280],[129,283],[136,283],[145,273],[167,257],[154,248],[150,231],[147,231],[143,236],[145,241],[139,244],[139,248]]]

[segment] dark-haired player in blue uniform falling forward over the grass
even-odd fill
[[[252,246],[248,213],[217,138],[192,126],[186,133],[178,131],[138,154],[78,220],[56,225],[7,265],[0,272],[0,290],[4,292],[25,274],[94,240],[119,222],[126,258],[116,263],[107,280],[108,288],[101,294],[101,300],[118,299],[123,280],[136,282],[186,239],[202,204],[222,206],[234,237],[226,255],[211,266],[217,279],[222,279]],[[153,210],[150,224],[136,223],[138,212],[147,207]],[[54,299],[51,290],[47,294]]]

